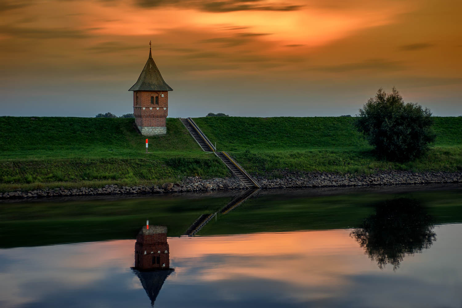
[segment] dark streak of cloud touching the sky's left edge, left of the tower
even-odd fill
[[[15,38],[86,38],[91,36],[89,31],[96,30],[96,28],[87,30],[72,30],[69,28],[49,28],[49,29],[38,29],[38,28],[26,28],[26,27],[14,27],[11,25],[1,25],[0,33],[8,36],[14,36]]]

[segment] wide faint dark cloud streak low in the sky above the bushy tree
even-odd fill
[[[385,59],[371,59],[363,62],[346,63],[339,65],[314,66],[311,69],[324,72],[351,72],[357,70],[388,70],[399,71],[404,69],[402,62]]]

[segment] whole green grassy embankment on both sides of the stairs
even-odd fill
[[[219,151],[251,173],[281,169],[370,174],[377,169],[462,170],[462,118],[435,117],[437,140],[408,163],[377,160],[348,117],[206,117],[195,121]],[[201,151],[178,119],[167,135],[149,138],[134,119],[0,117],[0,191],[41,187],[102,187],[224,177],[217,157]]]

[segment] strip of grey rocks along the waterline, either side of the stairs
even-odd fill
[[[278,172],[278,178],[270,175],[255,176],[263,189],[310,188],[310,187],[366,187],[390,185],[417,185],[462,183],[462,171],[459,172],[419,172],[412,171],[378,171],[372,175],[339,175],[317,172]],[[162,186],[117,186],[106,185],[102,188],[45,188],[28,192],[13,191],[0,193],[0,199],[27,199],[58,196],[97,196],[121,194],[159,194],[204,192],[213,190],[246,189],[237,178],[201,179],[188,177],[177,183],[164,183]]]

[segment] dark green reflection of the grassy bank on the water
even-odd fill
[[[218,214],[200,235],[245,234],[358,227],[384,200],[409,198],[425,207],[432,223],[462,221],[462,191],[310,196],[308,191],[270,193]],[[214,213],[233,197],[155,197],[5,203],[0,207],[0,248],[68,242],[134,239],[146,219],[180,236],[201,214]],[[153,206],[155,205],[155,206]],[[14,236],[12,236],[14,235]],[[18,241],[18,239],[21,239]]]

